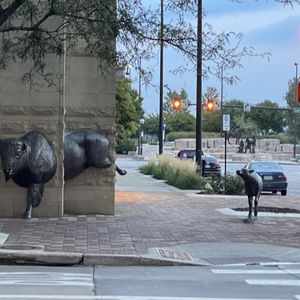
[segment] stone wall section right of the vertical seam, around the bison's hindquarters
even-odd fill
[[[106,134],[109,158],[115,161],[115,73],[98,68],[93,57],[67,57],[66,115],[68,129],[90,128]],[[66,214],[113,214],[115,171],[89,168],[65,183]]]

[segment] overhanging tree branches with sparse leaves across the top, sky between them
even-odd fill
[[[66,50],[76,51],[80,44],[87,54],[99,59],[102,69],[117,64],[130,64],[138,69],[140,57],[154,56],[161,38],[165,45],[180,51],[195,66],[196,1],[165,0],[164,4],[166,14],[172,18],[169,23],[165,20],[161,37],[159,7],[146,7],[139,0],[118,0],[116,6],[112,0],[3,0],[0,3],[0,68],[18,59],[30,61],[27,78],[37,73],[50,83],[45,69],[46,54],[59,56]],[[117,50],[115,39],[119,45]],[[205,24],[203,76],[218,75],[220,65],[233,69],[241,65],[244,56],[257,55],[251,47],[239,47],[242,39],[242,34],[215,33]]]

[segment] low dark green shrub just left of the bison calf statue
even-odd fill
[[[225,176],[213,176],[209,178],[209,183],[216,194],[225,192]],[[244,182],[237,175],[226,176],[226,194],[240,195],[244,190]]]

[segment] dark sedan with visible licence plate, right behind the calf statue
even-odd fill
[[[281,166],[276,162],[253,161],[245,166],[248,170],[254,170],[263,180],[263,191],[270,191],[276,194],[281,192],[282,196],[287,194],[287,178]]]

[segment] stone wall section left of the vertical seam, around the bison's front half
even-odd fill
[[[62,61],[63,58],[47,56],[47,68],[54,74],[52,87],[40,78],[35,79],[34,85],[22,81],[30,69],[26,63],[11,63],[7,70],[0,72],[0,137],[20,137],[31,130],[40,130],[52,143],[57,156],[57,172],[45,185],[43,199],[33,209],[33,217],[63,215],[63,94],[59,90]],[[12,180],[5,182],[2,169],[0,174],[0,216],[21,217],[26,208],[27,189]]]

